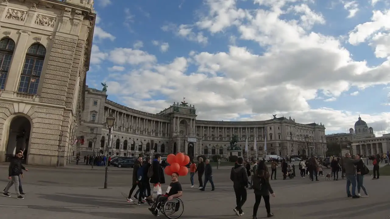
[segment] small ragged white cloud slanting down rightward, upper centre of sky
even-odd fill
[[[162,26],[163,31],[172,31],[175,35],[187,39],[189,41],[198,42],[200,44],[207,44],[207,37],[203,35],[202,32],[195,33],[193,32],[193,25],[165,25]]]

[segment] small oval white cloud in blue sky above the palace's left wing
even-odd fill
[[[119,65],[139,65],[156,62],[156,57],[149,53],[131,48],[115,48],[110,51],[110,61]]]

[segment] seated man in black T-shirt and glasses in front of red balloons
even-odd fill
[[[154,204],[149,210],[153,215],[157,215],[157,207],[165,201],[170,201],[173,198],[179,198],[183,195],[183,189],[179,182],[179,173],[172,173],[171,183],[169,184],[165,194],[158,195]]]

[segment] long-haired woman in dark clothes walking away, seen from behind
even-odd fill
[[[261,197],[264,199],[266,205],[267,217],[272,217],[274,214],[271,213],[271,206],[269,205],[269,194],[272,197],[275,197],[271,185],[269,184],[269,172],[268,167],[265,162],[260,162],[259,167],[255,173],[253,182],[253,189],[255,193],[255,205],[253,206],[253,216],[252,219],[257,219],[257,210],[260,205]]]

